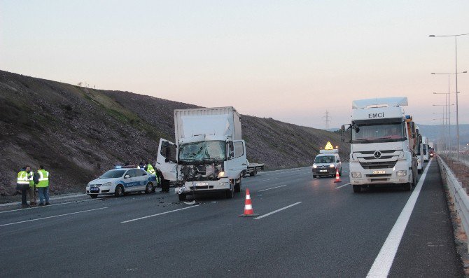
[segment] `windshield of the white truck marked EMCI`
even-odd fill
[[[402,123],[358,125],[358,132],[352,129],[352,143],[373,143],[404,140]]]

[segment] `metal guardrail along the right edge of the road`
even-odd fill
[[[443,181],[447,184],[449,194],[451,194],[452,200],[454,200],[454,207],[456,212],[461,218],[461,226],[466,235],[469,235],[469,196],[462,183],[456,179],[448,165],[437,155],[438,165],[440,165],[440,171],[442,174]],[[469,253],[469,237],[468,237],[468,253]]]

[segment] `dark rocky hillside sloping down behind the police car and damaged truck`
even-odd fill
[[[154,161],[160,137],[174,140],[174,109],[193,107],[0,71],[0,195],[15,193],[24,165],[44,165],[51,191],[65,193],[83,192],[116,163]],[[248,159],[267,169],[311,165],[327,141],[348,158],[337,133],[253,116],[241,116],[241,123]]]

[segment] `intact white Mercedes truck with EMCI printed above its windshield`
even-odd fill
[[[417,137],[414,121],[406,116],[407,97],[355,100],[352,103],[350,183],[353,192],[377,185],[416,185]],[[342,125],[342,140],[346,125]]]

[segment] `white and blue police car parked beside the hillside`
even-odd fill
[[[112,169],[90,181],[86,186],[86,194],[98,197],[99,194],[109,194],[120,197],[131,192],[153,193],[158,182],[154,174],[144,169],[118,168]]]

